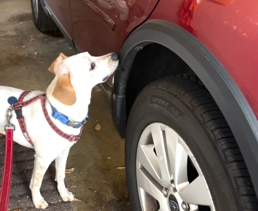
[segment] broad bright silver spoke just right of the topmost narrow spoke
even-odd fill
[[[169,153],[169,161],[175,187],[180,191],[188,183],[187,177],[187,151],[179,143],[181,139],[171,128],[166,127],[166,140]]]

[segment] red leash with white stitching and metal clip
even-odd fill
[[[15,126],[10,123],[12,109],[7,112],[8,124],[5,125],[5,152],[2,184],[0,191],[0,211],[8,210],[9,194],[11,188],[12,166],[13,166],[13,131]]]

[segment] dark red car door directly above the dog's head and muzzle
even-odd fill
[[[72,38],[82,51],[100,56],[119,52],[127,35],[158,0],[70,0]]]

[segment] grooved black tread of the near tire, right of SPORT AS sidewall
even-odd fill
[[[196,115],[222,158],[240,210],[258,210],[258,201],[244,158],[219,107],[202,84],[190,77],[167,77],[144,90],[163,88],[172,93]],[[143,90],[143,92],[144,92]]]

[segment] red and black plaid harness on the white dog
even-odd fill
[[[27,100],[25,102],[22,102],[23,99],[25,98],[25,96],[30,93],[31,91],[33,90],[30,90],[30,91],[24,91],[19,99],[18,99],[18,102],[17,103],[14,103],[12,105],[12,108],[15,110],[15,113],[16,113],[16,116],[17,116],[17,119],[18,119],[18,122],[19,122],[19,125],[20,125],[20,128],[21,128],[21,131],[25,137],[25,139],[31,144],[33,145],[33,142],[31,141],[28,133],[27,133],[27,129],[26,129],[26,125],[25,125],[25,121],[24,121],[24,117],[22,115],[22,107],[25,107],[25,106],[28,106],[30,103],[33,103],[34,101],[38,100],[38,99],[41,99],[41,106],[42,106],[42,110],[43,110],[43,113],[44,113],[44,116],[48,122],[48,124],[50,125],[50,127],[58,134],[60,135],[61,137],[67,139],[68,141],[70,142],[76,142],[78,141],[78,139],[80,138],[80,135],[82,134],[82,127],[81,126],[81,129],[80,129],[80,133],[79,135],[75,135],[75,136],[72,136],[72,135],[69,135],[67,133],[64,133],[62,131],[60,131],[60,129],[58,129],[58,127],[52,122],[52,120],[50,119],[48,113],[47,113],[47,109],[46,109],[46,94],[39,94],[37,96],[35,96],[34,98],[31,98],[30,100]],[[34,146],[34,145],[33,145]]]

